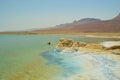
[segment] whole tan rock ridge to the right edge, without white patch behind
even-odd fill
[[[120,53],[120,44],[114,42],[112,46],[105,46],[105,42],[101,43],[85,43],[85,42],[78,42],[73,41],[71,39],[60,39],[56,49],[64,50],[64,51],[92,51],[92,52],[106,52],[106,51],[116,51]]]

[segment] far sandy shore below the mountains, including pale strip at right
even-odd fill
[[[80,32],[80,33],[50,33],[50,32],[0,32],[1,34],[18,34],[18,35],[39,35],[39,34],[58,34],[58,35],[75,35],[75,36],[83,36],[83,37],[90,37],[90,38],[113,38],[113,39],[118,39],[120,40],[120,33],[99,33],[99,32],[91,32],[91,33],[85,33],[85,32]]]

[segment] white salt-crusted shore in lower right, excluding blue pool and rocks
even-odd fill
[[[119,55],[114,54],[90,54],[74,52],[73,59],[82,62],[83,69],[77,74],[70,76],[67,80],[117,80],[120,73]],[[68,54],[70,55],[70,54]],[[112,70],[113,69],[113,70]],[[95,74],[94,74],[95,73]],[[111,74],[109,74],[111,73]],[[109,76],[108,76],[109,75]],[[116,76],[114,76],[116,75]],[[101,77],[100,77],[101,76]]]

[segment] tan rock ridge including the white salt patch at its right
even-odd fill
[[[71,39],[60,39],[56,49],[64,52],[91,52],[91,53],[109,53],[120,55],[120,41],[104,41],[99,43],[86,43],[73,41]]]

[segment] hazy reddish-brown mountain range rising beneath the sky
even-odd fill
[[[33,30],[37,33],[78,33],[78,32],[120,32],[120,14],[110,20],[84,18],[72,23],[60,24],[44,30]]]

